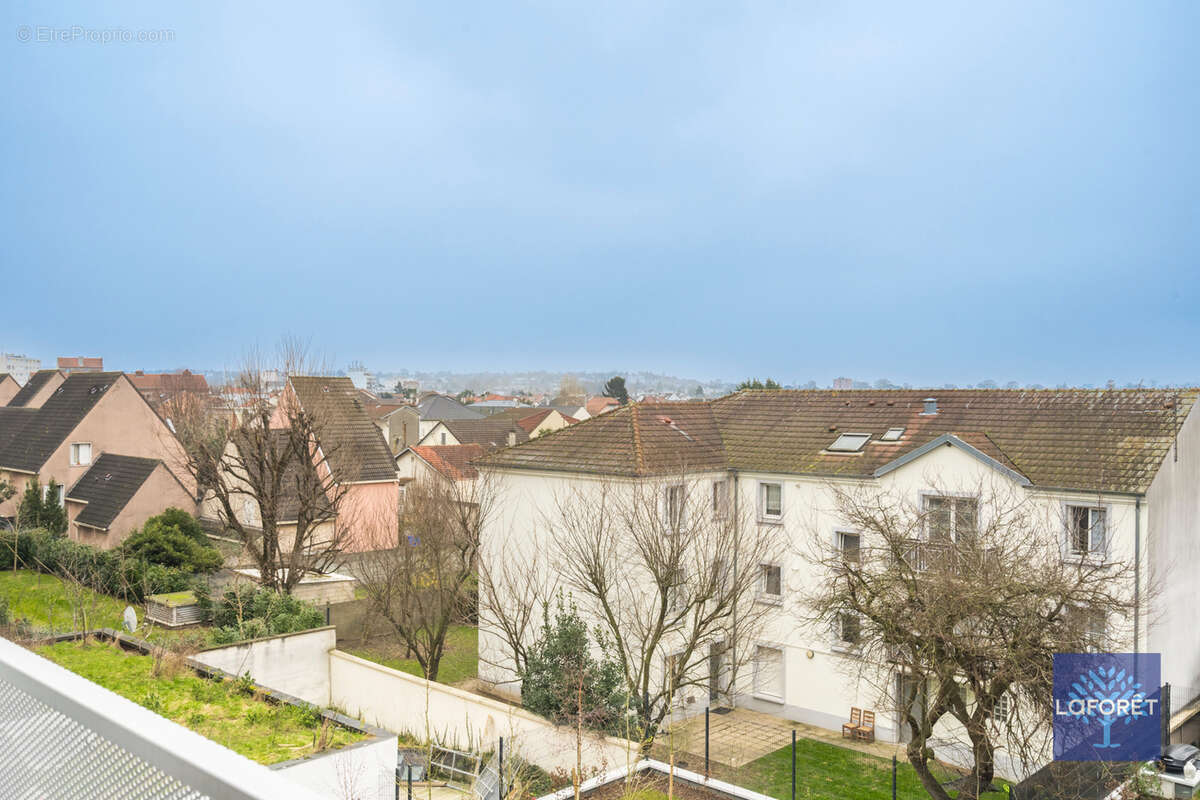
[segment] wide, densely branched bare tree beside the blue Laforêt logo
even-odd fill
[[[1133,607],[1133,565],[1064,557],[1057,503],[979,483],[914,501],[878,487],[830,485],[839,523],[814,528],[808,555],[826,577],[805,594],[808,622],[834,626],[846,669],[888,698],[911,739],[907,758],[931,798],[937,726],[960,727],[971,771],[958,798],[988,789],[997,751],[1015,765],[1045,758],[1055,652],[1106,649]],[[1084,536],[1104,536],[1100,528]],[[1086,549],[1086,548],[1085,548]]]

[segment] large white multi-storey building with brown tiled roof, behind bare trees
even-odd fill
[[[833,730],[852,705],[874,708],[880,738],[894,741],[902,736],[895,712],[845,676],[854,664],[857,628],[802,625],[803,591],[824,579],[802,554],[814,535],[857,552],[862,531],[833,516],[832,482],[898,492],[955,515],[959,504],[964,512],[974,507],[970,495],[984,482],[995,482],[1061,521],[1064,558],[1139,564],[1140,584],[1130,581],[1127,596],[1151,596],[1153,585],[1160,593],[1154,606],[1141,602],[1132,619],[1099,624],[1130,651],[1162,652],[1164,681],[1200,687],[1200,626],[1193,620],[1200,607],[1200,581],[1193,576],[1200,563],[1200,413],[1193,411],[1200,392],[934,395],[743,391],[704,402],[635,404],[500,450],[476,464],[503,477],[482,531],[488,545],[481,559],[520,561],[526,553],[533,563],[532,553],[552,549],[541,521],[569,493],[586,498],[604,486],[630,492],[642,486],[666,492],[661,499],[670,507],[670,493],[683,491],[686,479],[710,492],[714,513],[743,509],[750,524],[778,530],[788,553],[778,564],[754,566],[763,570],[761,601],[774,607],[767,630],[744,643],[755,648],[754,668],[732,685],[721,686],[718,676],[713,690],[739,706]],[[1080,537],[1072,529],[1078,519],[1099,524],[1104,535]],[[563,583],[551,561],[542,559],[546,572],[529,579]],[[516,679],[499,666],[506,657],[500,642],[481,626],[480,678],[493,684]],[[720,662],[713,667],[720,675]],[[691,708],[704,708],[707,696],[698,699]],[[1187,699],[1178,698],[1176,708]]]

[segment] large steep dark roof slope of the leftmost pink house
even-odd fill
[[[120,379],[119,372],[79,372],[67,375],[42,408],[30,414],[25,425],[14,431],[8,443],[0,449],[0,467],[25,473],[38,471],[104,392]]]

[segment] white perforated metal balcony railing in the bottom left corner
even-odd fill
[[[319,796],[2,638],[0,787],[30,800]]]

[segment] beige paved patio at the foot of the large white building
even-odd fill
[[[899,750],[896,745],[889,742],[851,741],[842,739],[840,730],[827,730],[770,714],[734,709],[728,714],[712,714],[709,716],[709,758],[727,766],[742,766],[792,744],[793,729],[796,735],[802,739],[816,739],[881,758],[890,758]],[[704,715],[701,714],[671,726],[659,738],[656,747],[673,747],[676,752],[688,753],[689,765],[703,766]],[[900,754],[902,756],[902,752]]]

